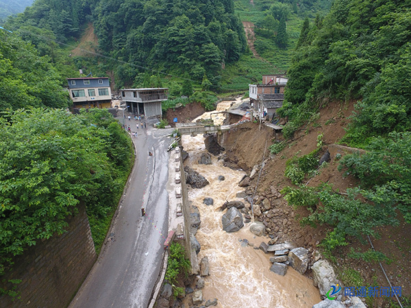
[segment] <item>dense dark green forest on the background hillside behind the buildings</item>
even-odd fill
[[[188,72],[199,82],[206,73],[214,85],[222,64],[236,62],[247,47],[233,0],[38,0],[6,25],[36,44],[38,29],[49,31],[36,33],[43,38],[53,34],[66,42],[78,38],[87,21],[94,23],[105,55],[175,75]],[[131,85],[144,72],[138,66],[110,62],[119,85]]]

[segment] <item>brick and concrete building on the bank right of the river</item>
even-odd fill
[[[282,107],[287,81],[285,75],[263,75],[262,84],[249,84],[250,103],[254,109],[260,114],[266,112],[271,120]]]

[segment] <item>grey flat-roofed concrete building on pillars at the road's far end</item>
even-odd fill
[[[168,88],[122,89],[121,100],[127,104],[128,112],[144,114],[146,118],[162,118],[161,102],[167,100]]]

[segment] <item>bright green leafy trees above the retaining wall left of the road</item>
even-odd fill
[[[107,110],[37,108],[0,118],[0,274],[25,247],[64,232],[79,203],[89,217],[116,207],[130,150]]]

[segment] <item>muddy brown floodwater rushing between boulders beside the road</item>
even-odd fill
[[[222,102],[219,109],[225,110],[229,103]],[[218,110],[217,110],[218,111]],[[208,116],[209,115],[204,115]],[[214,117],[213,117],[214,119]],[[236,198],[236,193],[244,189],[237,184],[245,174],[223,166],[223,162],[212,155],[211,165],[198,164],[201,153],[206,152],[203,136],[183,136],[182,145],[189,157],[185,164],[197,170],[210,182],[202,189],[188,190],[188,198],[197,206],[201,215],[201,226],[195,235],[201,244],[198,255],[208,257],[210,276],[204,277],[203,299],[217,298],[216,307],[312,307],[319,303],[319,290],[312,285],[312,280],[288,268],[282,277],[270,271],[271,254],[264,254],[251,246],[241,246],[240,239],[247,239],[259,246],[269,242],[268,237],[258,237],[249,231],[249,224],[238,232],[226,233],[222,229],[223,211],[217,208],[227,201],[243,201]],[[219,175],[225,181],[219,181]],[[214,205],[203,204],[203,198],[211,197]],[[192,305],[192,303],[190,303]]]

